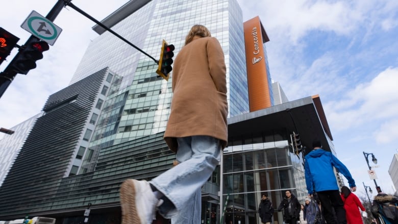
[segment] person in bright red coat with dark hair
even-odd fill
[[[350,188],[343,186],[341,188],[341,200],[344,202],[345,215],[347,224],[363,223],[361,213],[358,207],[365,211],[362,203],[359,201],[357,195],[351,193]]]

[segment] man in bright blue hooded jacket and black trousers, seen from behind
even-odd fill
[[[312,143],[314,148],[305,157],[305,176],[308,194],[317,193],[322,213],[328,224],[347,223],[344,204],[339,193],[335,167],[349,182],[352,191],[356,191],[355,181],[350,171],[332,153],[322,150],[320,141]],[[336,216],[334,215],[333,208]]]

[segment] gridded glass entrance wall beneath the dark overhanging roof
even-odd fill
[[[222,162],[220,204],[228,201],[223,223],[261,224],[257,210],[262,193],[267,193],[275,208],[273,223],[283,223],[277,208],[287,189],[304,201],[303,160],[301,154],[293,153],[289,139],[283,130],[229,140]]]

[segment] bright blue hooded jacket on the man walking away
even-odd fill
[[[311,151],[305,157],[304,166],[309,194],[324,190],[339,190],[333,166],[348,180],[350,187],[355,187],[350,171],[330,152],[322,149]]]

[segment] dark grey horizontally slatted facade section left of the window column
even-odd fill
[[[0,188],[0,216],[42,210],[72,161],[107,69],[49,96]],[[31,204],[32,206],[29,206]],[[23,215],[22,215],[23,217]]]

